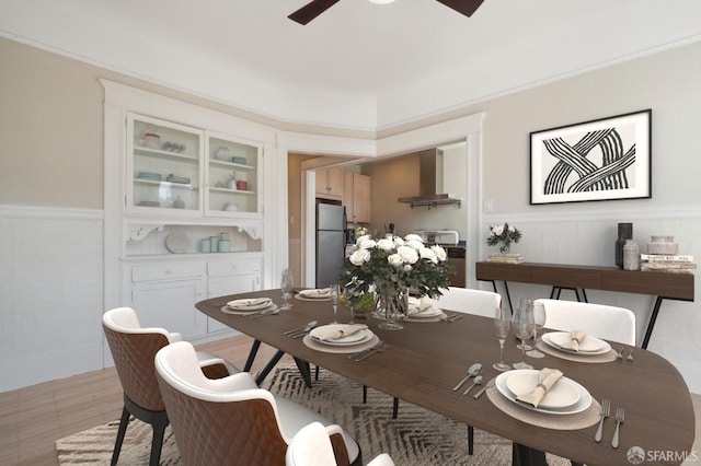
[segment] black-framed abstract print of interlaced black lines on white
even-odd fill
[[[530,203],[652,197],[652,109],[530,133]]]

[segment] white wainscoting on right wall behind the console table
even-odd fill
[[[526,261],[550,264],[578,264],[611,266],[614,261],[614,243],[618,222],[633,223],[633,238],[641,253],[647,251],[652,235],[673,235],[679,244],[679,254],[692,255],[701,261],[701,211],[632,210],[587,211],[583,213],[506,214],[484,215],[482,232],[490,225],[507,221],[522,233],[513,253],[521,253]],[[476,260],[484,260],[496,247],[480,245]],[[474,270],[474,269],[473,269]],[[652,273],[652,272],[651,272]],[[664,300],[647,349],[669,360],[681,373],[689,389],[701,394],[701,280],[694,273],[694,302]],[[481,282],[482,289],[491,289]],[[504,294],[503,284],[499,292]],[[518,298],[548,298],[550,288],[509,283],[512,302]],[[587,290],[589,302],[630,308],[635,313],[637,345],[645,336],[652,314],[654,296]],[[563,290],[561,299],[576,300],[574,292]]]

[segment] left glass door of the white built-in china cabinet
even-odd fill
[[[127,210],[202,214],[204,131],[136,114],[127,116]]]

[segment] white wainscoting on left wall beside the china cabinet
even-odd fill
[[[0,206],[0,392],[102,369],[103,219]]]

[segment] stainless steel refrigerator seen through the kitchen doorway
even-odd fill
[[[338,282],[345,255],[346,208],[317,200],[317,288]]]

